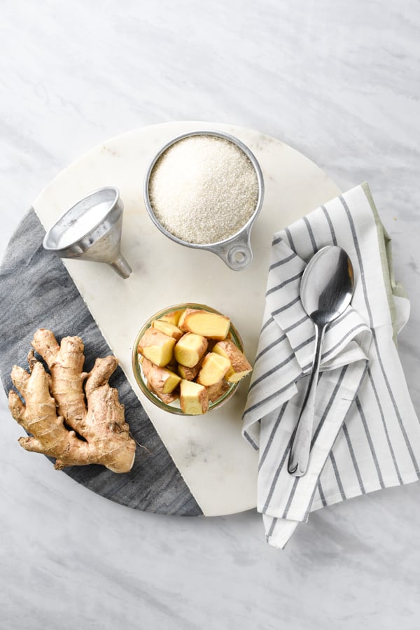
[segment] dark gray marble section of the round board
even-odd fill
[[[6,392],[13,388],[10,367],[16,363],[27,369],[26,357],[36,328],[52,330],[58,340],[69,330],[81,337],[86,371],[92,369],[97,356],[111,354],[62,261],[43,249],[44,235],[34,210],[29,211],[10,239],[0,267],[0,370]],[[202,514],[119,367],[111,385],[118,389],[132,436],[141,444],[132,470],[115,475],[104,466],[90,465],[69,466],[64,472],[128,507],[181,516]]]

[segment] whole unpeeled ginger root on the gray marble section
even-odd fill
[[[32,341],[50,374],[28,355],[29,372],[13,366],[15,391],[9,392],[13,418],[31,434],[20,437],[27,451],[55,458],[55,468],[97,463],[113,472],[129,472],[136,442],[124,419],[124,405],[109,378],[118,365],[114,356],[97,358],[83,372],[84,346],[80,337],[64,337],[61,345],[50,330],[37,330]],[[83,387],[84,385],[84,387]]]

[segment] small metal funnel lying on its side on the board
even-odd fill
[[[120,253],[123,202],[118,188],[99,188],[79,200],[52,225],[43,248],[60,258],[106,262],[122,278],[132,269]]]

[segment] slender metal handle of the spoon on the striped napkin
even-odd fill
[[[294,477],[302,477],[308,468],[309,451],[311,449],[312,427],[314,425],[316,386],[318,385],[319,364],[325,326],[315,324],[315,352],[311,377],[304,397],[300,416],[293,435],[288,460],[288,472]]]

